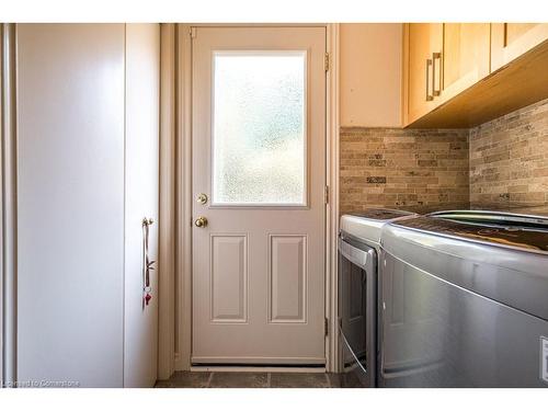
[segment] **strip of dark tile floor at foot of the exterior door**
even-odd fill
[[[338,374],[176,372],[157,388],[339,388]]]

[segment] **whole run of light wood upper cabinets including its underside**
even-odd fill
[[[469,127],[548,98],[547,67],[547,23],[406,24],[403,125]]]

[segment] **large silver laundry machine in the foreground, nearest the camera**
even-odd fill
[[[383,228],[383,387],[548,387],[548,216]]]

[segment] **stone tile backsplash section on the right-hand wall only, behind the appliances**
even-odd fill
[[[470,129],[470,202],[548,203],[548,100]]]

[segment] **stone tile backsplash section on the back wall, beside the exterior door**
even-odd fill
[[[469,204],[468,130],[341,128],[340,210]]]

